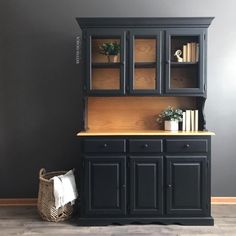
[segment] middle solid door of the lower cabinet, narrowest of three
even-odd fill
[[[163,158],[130,157],[130,214],[163,213]]]

